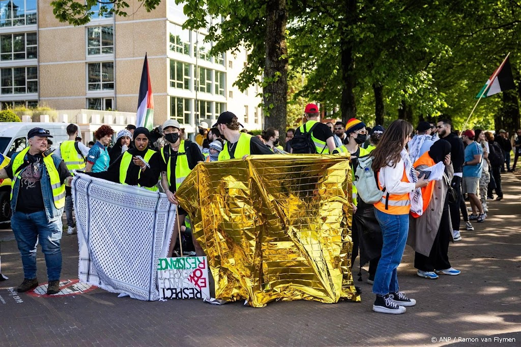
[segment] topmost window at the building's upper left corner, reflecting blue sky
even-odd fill
[[[36,0],[0,0],[0,27],[36,24]]]

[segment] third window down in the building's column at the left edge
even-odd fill
[[[0,73],[2,94],[38,93],[38,68],[6,68]]]

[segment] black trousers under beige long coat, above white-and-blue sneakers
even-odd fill
[[[415,252],[414,267],[421,271],[444,270],[451,267],[449,262],[449,242],[452,240],[449,209],[443,209],[440,227],[432,244],[429,256]]]

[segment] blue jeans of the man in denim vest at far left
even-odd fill
[[[61,273],[61,218],[47,222],[45,211],[23,213],[16,211],[11,216],[11,227],[15,234],[18,250],[22,256],[23,277],[36,278],[36,246],[40,241],[45,254],[47,278],[60,279]]]

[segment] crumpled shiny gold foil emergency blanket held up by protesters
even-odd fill
[[[217,299],[360,301],[351,275],[347,157],[249,156],[199,164],[177,198]]]

